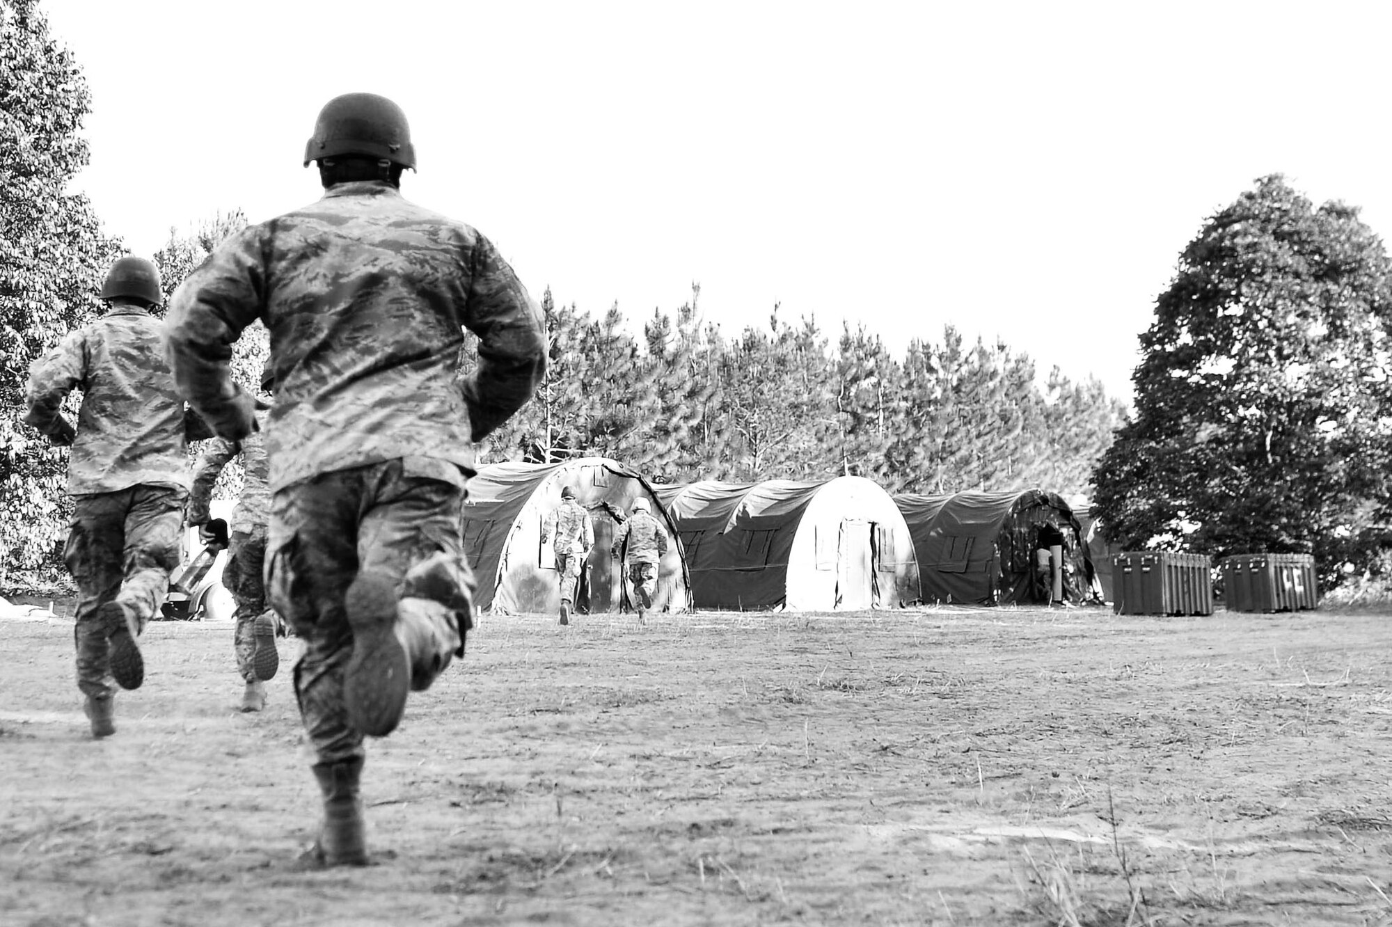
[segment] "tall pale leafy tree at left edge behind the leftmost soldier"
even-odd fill
[[[71,502],[67,451],[22,425],[29,365],[100,310],[120,242],[82,195],[78,135],[90,111],[72,54],[49,36],[36,0],[0,1],[0,585],[60,580],[56,543]]]

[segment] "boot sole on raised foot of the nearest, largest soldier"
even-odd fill
[[[411,692],[411,660],[397,639],[397,590],[386,576],[359,575],[345,600],[352,656],[344,672],[348,724],[381,738],[397,729]]]

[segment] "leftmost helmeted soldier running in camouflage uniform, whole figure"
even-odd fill
[[[70,333],[29,367],[25,422],[71,444],[74,511],[63,560],[78,586],[78,689],[92,735],[116,732],[114,679],[138,689],[145,660],[136,639],[178,566],[188,497],[184,399],[160,351],[159,271],[121,258],[102,287],[107,312]],[[74,431],[64,397],[82,390]]]

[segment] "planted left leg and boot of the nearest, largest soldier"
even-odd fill
[[[295,699],[324,802],[323,825],[305,859],[309,864],[367,862],[359,798],[363,736],[348,724],[344,706],[344,671],[352,654],[344,594],[358,573],[363,469],[324,473],[271,498],[266,592],[303,642]]]

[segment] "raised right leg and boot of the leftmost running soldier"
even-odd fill
[[[125,515],[125,579],[116,600],[102,607],[111,626],[111,675],[125,689],[138,689],[145,681],[136,639],[164,601],[170,573],[178,566],[187,496],[166,486],[132,487]]]

